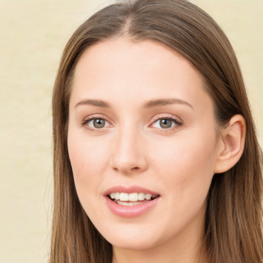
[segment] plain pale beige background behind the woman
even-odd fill
[[[55,72],[74,29],[112,2],[0,0],[0,263],[47,262]],[[262,145],[263,1],[192,2],[230,37]]]

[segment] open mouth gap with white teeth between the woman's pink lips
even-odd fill
[[[119,193],[119,192],[112,192],[107,197],[119,204],[119,205],[125,205],[125,206],[132,206],[132,205],[138,205],[144,202],[152,201],[156,198],[158,198],[160,195],[157,194],[148,194],[148,193]]]

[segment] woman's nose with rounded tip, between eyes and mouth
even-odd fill
[[[143,138],[135,130],[126,129],[116,134],[112,147],[111,167],[116,172],[138,174],[148,167]]]

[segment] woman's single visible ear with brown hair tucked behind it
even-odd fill
[[[214,173],[219,174],[230,170],[240,159],[246,138],[246,121],[243,116],[235,115],[229,125],[222,130],[218,142],[218,156]]]

